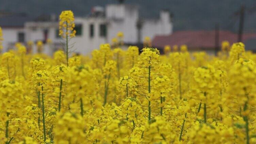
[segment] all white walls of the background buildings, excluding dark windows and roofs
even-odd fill
[[[138,42],[137,21],[139,20],[139,8],[136,5],[110,4],[106,6],[106,17],[76,17],[75,23],[82,25],[82,35],[72,38],[69,44],[74,43],[71,51],[80,54],[90,54],[94,49],[98,49],[101,43],[111,43],[111,39],[121,31],[124,33],[124,42],[136,44]],[[94,37],[90,37],[90,24],[94,25]],[[100,24],[107,25],[107,36],[100,36]],[[56,47],[63,47],[60,43],[63,39],[56,37],[56,30],[59,23],[52,22],[26,22],[24,28],[3,28],[4,51],[9,45],[18,41],[18,32],[25,33],[25,41],[32,40],[35,43],[33,52],[36,52],[36,41],[44,40],[44,30],[48,30],[48,38],[53,42],[55,48],[44,46],[44,53],[52,55]],[[155,35],[169,35],[172,33],[172,23],[169,12],[161,11],[157,20],[145,20],[141,30],[141,42],[144,37],[151,39]]]

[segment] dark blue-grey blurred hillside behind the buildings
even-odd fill
[[[116,0],[0,0],[0,10],[24,12],[32,16],[41,14],[59,15],[62,10],[72,10],[75,16],[86,16],[96,5],[117,3]],[[156,18],[161,9],[173,13],[174,31],[212,30],[215,23],[221,29],[237,31],[239,16],[235,15],[244,4],[256,6],[255,0],[126,0],[127,4],[138,4],[141,17]],[[256,10],[256,8],[255,8]],[[256,32],[256,11],[246,12],[245,32]]]

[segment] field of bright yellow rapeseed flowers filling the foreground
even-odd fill
[[[32,54],[30,41],[0,54],[2,143],[256,143],[256,54],[243,43],[225,41],[217,56],[186,45],[160,55],[147,38],[139,54],[118,33],[115,46],[71,55],[74,15],[60,20],[65,52],[46,56],[38,41]]]

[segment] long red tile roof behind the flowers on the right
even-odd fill
[[[243,41],[256,38],[256,33],[243,34]],[[219,46],[227,40],[229,43],[237,42],[237,34],[230,31],[219,31]],[[215,31],[178,31],[171,35],[155,36],[152,45],[156,48],[163,48],[165,45],[186,44],[192,49],[212,49],[215,47]]]

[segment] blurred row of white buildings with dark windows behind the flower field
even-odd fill
[[[125,44],[137,44],[142,43],[146,36],[153,38],[155,35],[170,35],[173,29],[168,11],[161,11],[159,19],[141,19],[137,5],[122,3],[109,4],[105,10],[96,6],[87,17],[75,16],[75,24],[77,34],[70,43],[75,42],[73,50],[80,54],[88,54],[101,43],[111,42],[119,31],[124,33]],[[45,47],[45,53],[51,55],[61,47],[58,28],[56,17],[29,20],[18,28],[2,26],[4,51],[17,41],[26,43],[29,40],[36,42],[50,38],[53,47]]]

